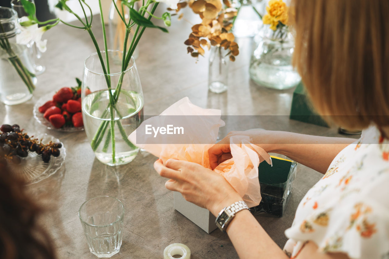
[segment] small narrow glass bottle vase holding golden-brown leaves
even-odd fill
[[[229,50],[212,46],[209,56],[208,87],[213,93],[223,93],[228,88]]]

